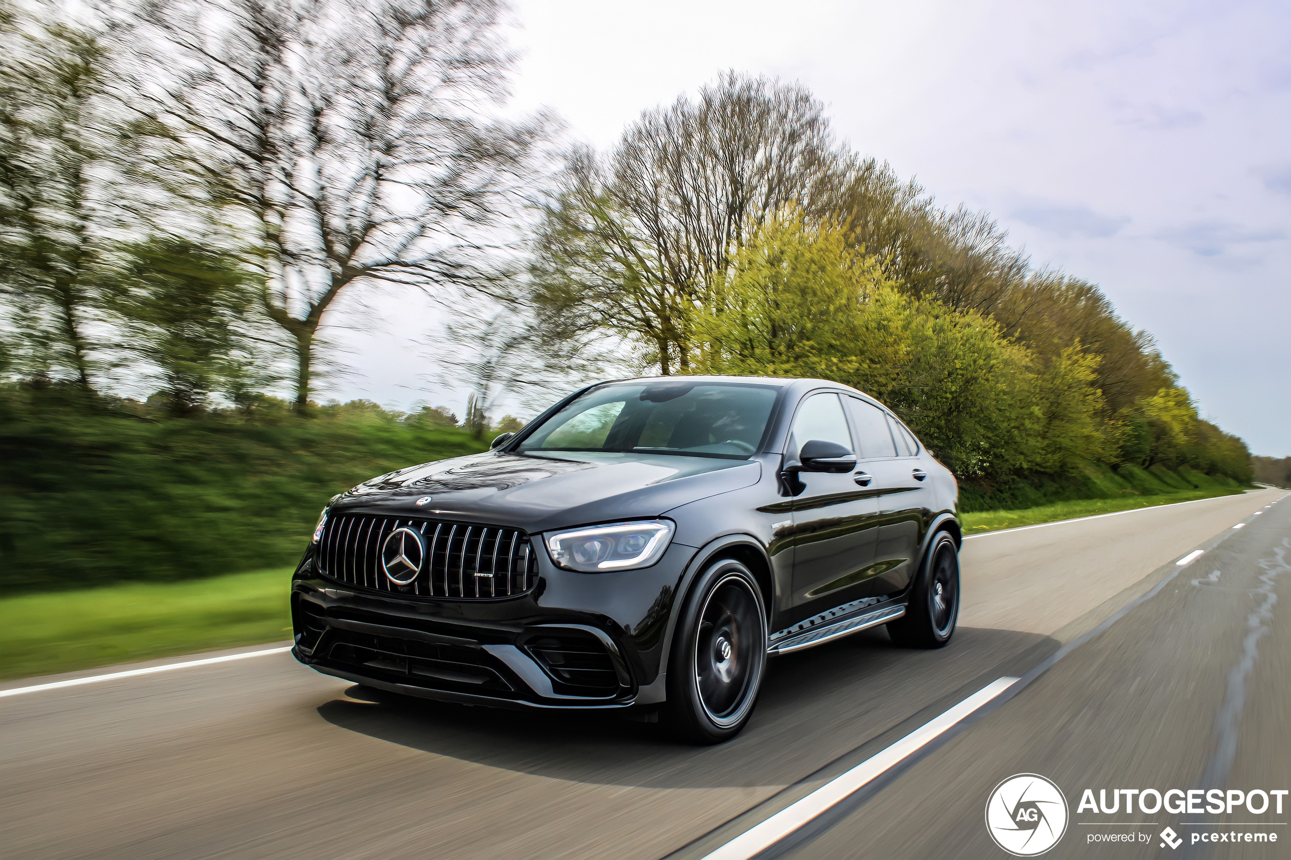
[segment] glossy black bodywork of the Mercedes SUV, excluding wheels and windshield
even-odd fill
[[[392,472],[334,499],[323,539],[293,576],[293,654],[328,674],[431,699],[515,708],[656,704],[666,695],[680,598],[711,560],[738,557],[757,575],[775,650],[812,630],[846,632],[848,623],[891,616],[931,536],[946,530],[958,542],[954,477],[860,392],[809,379],[615,384],[646,386],[640,400],[656,402],[673,395],[649,386],[683,380],[775,388],[757,444],[727,445],[755,450],[523,450],[534,428],[602,388],[594,386],[494,450]],[[855,467],[793,472],[807,441],[791,437],[795,414],[802,418],[813,395],[834,395],[847,411]],[[815,404],[834,409],[828,397]],[[875,435],[883,420],[888,442]],[[430,502],[418,505],[425,496]],[[656,520],[674,533],[648,567],[564,570],[542,539]],[[380,544],[409,523],[425,535],[427,576],[400,587],[381,575]]]

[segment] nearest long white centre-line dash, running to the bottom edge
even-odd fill
[[[790,803],[766,821],[745,830],[704,860],[747,860],[766,851],[786,836],[799,829],[821,812],[874,781],[886,771],[919,752],[932,740],[953,728],[975,710],[989,704],[999,694],[1017,683],[1017,678],[997,678],[939,717],[933,717],[891,747],[825,783],[815,792]]]

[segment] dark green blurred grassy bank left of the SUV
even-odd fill
[[[0,396],[0,589],[169,580],[290,565],[336,493],[482,450],[373,404],[294,416],[139,418],[58,393]]]

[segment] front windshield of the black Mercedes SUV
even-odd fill
[[[519,451],[634,451],[744,458],[758,450],[776,386],[615,383],[574,398]]]

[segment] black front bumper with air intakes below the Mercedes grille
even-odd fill
[[[540,563],[537,588],[496,601],[355,589],[302,560],[292,583],[301,663],[372,687],[506,708],[618,709],[662,701],[664,630],[695,549],[653,567],[577,574]]]

